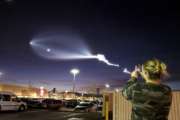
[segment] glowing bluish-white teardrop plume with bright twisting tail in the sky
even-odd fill
[[[119,67],[119,64],[109,62],[103,54],[92,54],[79,36],[45,33],[33,38],[29,44],[36,54],[47,59],[97,59],[108,66]]]

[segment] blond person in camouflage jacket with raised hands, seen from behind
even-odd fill
[[[167,75],[166,65],[158,59],[135,67],[122,90],[123,96],[132,103],[131,120],[168,120],[172,91],[162,84]],[[139,82],[139,77],[144,82]]]

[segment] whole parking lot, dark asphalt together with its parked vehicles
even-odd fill
[[[18,98],[0,92],[0,120],[100,120],[102,102]]]

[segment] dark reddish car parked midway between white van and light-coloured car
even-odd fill
[[[42,107],[46,109],[59,109],[63,105],[61,100],[44,99],[42,100]]]

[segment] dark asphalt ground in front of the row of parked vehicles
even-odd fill
[[[59,112],[34,109],[25,112],[1,112],[0,120],[101,120],[100,113]]]

